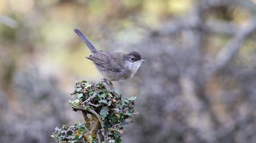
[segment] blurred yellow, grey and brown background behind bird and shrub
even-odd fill
[[[123,142],[256,142],[255,0],[1,0],[0,142],[54,142],[82,121],[69,107],[99,81],[80,28],[101,50],[137,50],[137,96]]]

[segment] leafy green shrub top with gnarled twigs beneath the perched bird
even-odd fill
[[[58,142],[121,142],[124,125],[133,121],[135,99],[122,99],[122,95],[105,79],[76,82],[69,105],[82,111],[84,123],[55,128],[52,137]]]

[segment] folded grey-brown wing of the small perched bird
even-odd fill
[[[120,68],[115,63],[115,59],[113,59],[112,55],[108,52],[93,53],[93,55],[90,55],[87,58],[93,61],[95,64],[101,65],[102,67],[105,67],[108,70],[112,70],[115,72],[120,71]]]

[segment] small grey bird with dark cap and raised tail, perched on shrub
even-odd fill
[[[132,78],[141,63],[145,62],[138,52],[133,51],[126,54],[97,50],[79,29],[74,29],[74,32],[79,35],[91,51],[91,55],[86,58],[93,61],[104,78],[110,81],[124,81]]]

